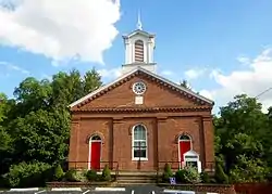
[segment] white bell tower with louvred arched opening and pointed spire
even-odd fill
[[[156,73],[153,62],[154,35],[143,30],[140,14],[138,13],[137,29],[129,35],[123,36],[125,44],[125,64],[122,65],[123,74],[135,66]]]

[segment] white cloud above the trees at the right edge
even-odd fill
[[[257,57],[248,60],[250,63],[247,70],[234,70],[223,75],[213,70],[211,76],[220,86],[210,91],[220,105],[233,100],[234,95],[246,93],[257,96],[272,87],[272,49],[265,49]],[[263,111],[272,106],[272,90],[260,95],[259,101],[263,104]]]

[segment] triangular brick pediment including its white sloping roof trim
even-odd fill
[[[145,106],[145,104],[143,105],[143,107],[148,107],[148,108],[162,108],[160,107],[161,104],[163,107],[168,106],[173,106],[173,107],[178,107],[181,108],[183,107],[193,107],[193,106],[208,106],[208,107],[212,107],[213,106],[213,101],[208,100],[197,93],[195,93],[194,91],[186,89],[182,86],[178,86],[177,83],[174,83],[157,74],[153,74],[147,69],[141,68],[140,66],[134,68],[132,72],[123,75],[122,77],[118,78],[116,80],[110,82],[109,85],[106,85],[99,89],[97,89],[96,91],[87,94],[86,96],[79,99],[78,101],[72,103],[70,105],[71,109],[81,109],[82,107],[86,106],[87,104],[91,104],[92,102],[95,102],[96,100],[97,103],[92,103],[91,107],[96,108],[96,107],[126,107],[126,108],[134,108],[133,98],[127,98],[125,96],[126,92],[132,92],[131,91],[131,83],[129,81],[135,81],[141,79],[146,82],[148,82],[148,87],[152,88],[153,86],[156,86],[156,88],[153,87],[152,91],[149,91],[149,93],[152,93],[153,96],[149,98],[147,101],[149,102],[148,105]],[[122,88],[124,87],[124,88]],[[129,90],[129,91],[128,91]],[[159,91],[160,90],[160,91]],[[157,92],[157,93],[156,93]],[[168,93],[168,95],[165,95],[164,99],[162,99],[160,96],[160,94],[162,94],[162,92]],[[107,99],[104,96],[107,95],[111,95],[111,99]],[[134,94],[135,95],[135,94]],[[151,96],[151,95],[149,95]],[[175,99],[175,101],[173,101],[174,104],[171,104],[172,99]],[[128,101],[129,99],[129,101]],[[153,101],[157,101],[156,103],[152,103]],[[121,102],[121,103],[115,103],[115,102]],[[103,105],[106,104],[106,105]],[[151,104],[151,105],[150,105]],[[137,108],[141,108],[139,106],[137,106]],[[135,108],[134,108],[135,109]]]

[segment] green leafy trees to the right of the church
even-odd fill
[[[236,95],[221,107],[220,117],[213,119],[219,173],[223,173],[223,165],[232,182],[267,180],[272,165],[270,115],[262,112],[255,98],[246,94]],[[219,177],[219,182],[226,182],[226,176]]]

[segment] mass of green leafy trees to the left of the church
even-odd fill
[[[28,177],[38,176],[38,169],[66,160],[71,122],[67,105],[101,85],[96,69],[85,75],[73,69],[53,75],[52,80],[24,79],[14,90],[15,99],[0,93],[1,182],[21,185]],[[46,177],[61,179],[61,169],[55,170],[54,176],[52,168],[39,174],[35,186],[41,185]],[[73,177],[71,172],[67,176]],[[75,174],[75,179],[82,177]]]

